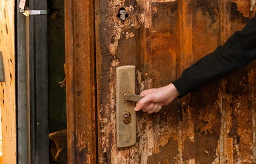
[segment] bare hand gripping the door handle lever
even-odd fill
[[[135,111],[142,109],[143,112],[157,113],[165,106],[173,101],[174,98],[179,96],[179,92],[173,84],[159,87],[157,89],[144,90],[140,94],[144,96],[137,102]]]

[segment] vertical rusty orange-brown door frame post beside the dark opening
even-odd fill
[[[94,6],[65,1],[68,163],[96,163]]]

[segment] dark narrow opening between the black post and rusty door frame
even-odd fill
[[[67,163],[64,1],[49,0],[49,162]]]

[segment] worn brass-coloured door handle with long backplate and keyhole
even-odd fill
[[[138,101],[142,97],[135,95],[135,66],[118,67],[116,73],[115,107],[117,148],[125,148],[136,143],[134,101]]]

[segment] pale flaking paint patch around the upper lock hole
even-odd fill
[[[151,28],[152,27],[152,7],[151,4],[153,2],[174,2],[176,0],[166,0],[166,1],[139,1],[137,0],[137,4],[140,7],[139,10],[135,10],[135,7],[133,5],[125,6],[125,1],[111,1],[108,3],[109,10],[108,11],[108,19],[107,19],[107,25],[109,29],[112,29],[111,34],[109,36],[112,36],[112,38],[109,38],[107,40],[109,46],[109,52],[110,55],[114,56],[117,51],[119,40],[125,35],[126,38],[133,37],[132,34],[130,36],[127,36],[126,31],[131,30],[131,28],[139,28],[141,24],[144,24],[144,28]],[[124,8],[129,16],[126,18],[125,21],[120,20],[116,15],[120,8]],[[144,12],[139,12],[143,10]],[[156,8],[153,8],[153,10],[156,13]],[[154,12],[153,11],[153,12]],[[104,29],[106,31],[107,28]]]

